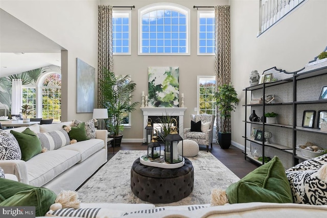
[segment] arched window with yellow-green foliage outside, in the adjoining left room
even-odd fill
[[[42,81],[42,118],[60,121],[61,116],[61,75],[54,73]]]

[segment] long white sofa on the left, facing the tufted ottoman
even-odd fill
[[[62,129],[72,122],[32,125],[38,133]],[[22,132],[27,127],[7,129]],[[107,130],[96,130],[96,138],[68,144],[57,150],[37,154],[28,161],[0,160],[6,174],[14,174],[18,181],[38,187],[46,187],[59,193],[76,190],[99,167],[107,162]]]

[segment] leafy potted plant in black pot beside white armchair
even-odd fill
[[[231,84],[218,86],[218,92],[215,93],[216,105],[222,119],[222,126],[218,131],[218,142],[222,149],[228,149],[231,141],[231,130],[228,128],[230,122],[230,112],[235,111],[239,102],[237,92]]]

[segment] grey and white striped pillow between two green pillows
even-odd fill
[[[67,146],[70,142],[68,133],[65,130],[56,130],[45,133],[37,133],[41,141],[42,149],[56,150],[63,146]]]

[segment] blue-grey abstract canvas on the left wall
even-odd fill
[[[96,69],[76,58],[76,113],[91,113],[95,108]]]

